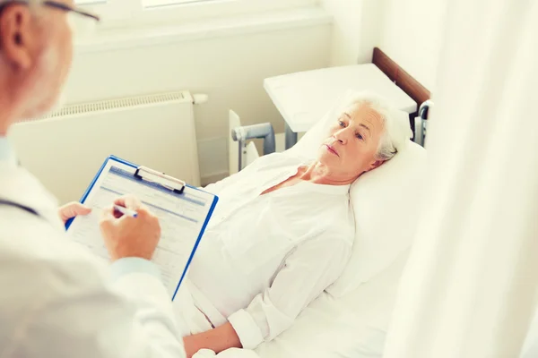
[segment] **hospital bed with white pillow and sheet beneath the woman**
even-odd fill
[[[403,73],[403,69],[399,70]],[[411,78],[411,76],[409,76]],[[406,81],[414,81],[411,78]],[[421,94],[422,95],[422,94]],[[430,93],[427,93],[428,97]],[[362,175],[351,185],[351,205],[355,214],[356,237],[351,260],[333,286],[302,311],[293,326],[271,342],[245,356],[366,358],[381,357],[390,326],[398,282],[412,245],[417,200],[424,176],[426,150],[423,149],[424,119],[431,103],[422,104],[415,121],[413,141],[395,158],[375,171]],[[334,106],[299,142],[288,149],[291,155],[315,156],[319,143],[334,118]],[[420,115],[419,115],[420,114]],[[230,147],[230,165],[238,170],[257,158],[250,138],[265,141],[264,154],[277,149],[273,129],[262,124],[241,127],[239,115],[230,112],[230,131],[237,146]],[[418,124],[418,126],[417,126]],[[238,152],[241,155],[238,158]],[[236,160],[237,158],[237,160]],[[390,225],[387,225],[390,223]],[[240,357],[239,351],[219,354]]]

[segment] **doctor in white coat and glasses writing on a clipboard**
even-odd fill
[[[72,3],[0,1],[0,357],[181,358],[169,296],[148,260],[156,217],[134,198],[117,204],[138,209],[136,219],[105,211],[108,277],[65,238],[62,220],[87,209],[68,205],[58,216],[5,138],[18,119],[55,104],[72,56],[67,17],[97,20]]]

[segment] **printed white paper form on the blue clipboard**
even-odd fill
[[[136,169],[121,159],[108,158],[82,198],[91,207],[91,214],[75,217],[67,234],[108,262],[108,251],[100,234],[100,214],[117,197],[134,194],[159,217],[161,240],[152,262],[161,269],[163,283],[173,299],[218,198],[189,186],[179,193],[157,181],[142,180],[135,176]]]

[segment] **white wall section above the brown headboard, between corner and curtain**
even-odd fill
[[[384,0],[379,47],[434,91],[447,0]]]

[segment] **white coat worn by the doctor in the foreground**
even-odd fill
[[[61,180],[61,175],[58,175]],[[56,200],[0,158],[0,358],[182,358],[158,277],[117,272],[69,242]]]

